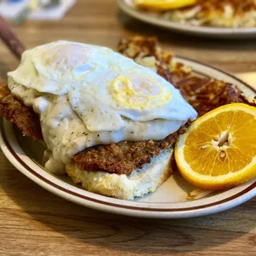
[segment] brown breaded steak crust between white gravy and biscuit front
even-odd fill
[[[162,141],[119,142],[94,146],[76,154],[73,159],[82,170],[103,170],[110,174],[130,175],[149,163],[151,158],[161,154],[162,150],[171,148],[178,135],[185,132],[186,126],[182,126]]]

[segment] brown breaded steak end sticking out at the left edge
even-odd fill
[[[0,86],[0,116],[13,122],[25,136],[42,139],[38,114],[14,98],[6,84]]]

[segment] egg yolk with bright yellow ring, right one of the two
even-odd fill
[[[170,102],[171,98],[170,90],[151,78],[119,76],[111,87],[114,100],[132,109],[152,109]]]

